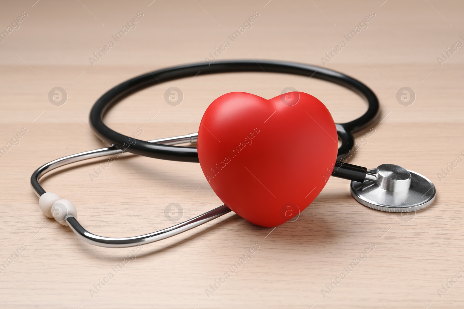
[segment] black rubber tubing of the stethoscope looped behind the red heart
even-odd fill
[[[379,101],[374,92],[362,82],[342,73],[304,63],[271,60],[226,60],[213,63],[192,63],[160,69],[122,82],[95,102],[90,110],[90,125],[101,139],[125,151],[150,158],[199,162],[196,147],[161,145],[134,139],[110,129],[103,123],[103,117],[108,109],[117,102],[144,88],[179,78],[232,72],[284,73],[314,77],[334,82],[364,97],[368,103],[366,113],[353,121],[336,124],[338,137],[342,141],[342,145],[338,149],[337,160],[344,158],[353,148],[354,138],[352,133],[366,127],[379,112]]]

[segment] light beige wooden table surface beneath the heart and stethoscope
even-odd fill
[[[460,1],[151,1],[0,5],[0,30],[11,30],[0,42],[0,148],[8,148],[0,158],[1,308],[463,307]],[[142,17],[114,40],[138,12]],[[232,42],[228,36],[253,13],[258,18]],[[348,41],[344,36],[369,14],[374,17]],[[110,40],[114,46],[95,58]],[[346,46],[327,57],[342,40]],[[361,147],[350,163],[419,172],[435,184],[435,202],[409,215],[384,213],[354,201],[348,181],[331,178],[295,222],[267,229],[230,213],[136,254],[91,246],[42,214],[29,177],[53,159],[105,145],[88,126],[100,95],[147,70],[205,62],[225,41],[230,46],[220,60],[325,64],[365,82],[379,97],[381,114],[357,134]],[[64,104],[49,101],[54,87],[64,88]],[[182,90],[180,105],[164,100],[169,87]],[[126,134],[143,131],[146,140],[197,132],[219,95],[271,98],[285,87],[319,98],[336,122],[366,110],[360,97],[328,82],[263,72],[167,82],[125,99],[105,121]],[[413,102],[397,100],[403,87],[412,89]],[[361,140],[371,128],[375,133]],[[107,160],[42,181],[45,190],[75,203],[79,221],[93,233],[133,236],[168,227],[165,208],[173,202],[183,209],[182,220],[221,205],[199,164],[124,154],[92,181]],[[238,271],[229,271],[244,257]],[[225,272],[230,277],[219,286]]]

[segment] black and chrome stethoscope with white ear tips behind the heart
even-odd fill
[[[111,147],[80,152],[42,165],[31,176],[31,185],[39,196],[39,206],[43,213],[63,225],[69,225],[81,239],[96,246],[128,247],[162,240],[197,227],[231,211],[226,205],[214,208],[190,220],[160,231],[134,237],[110,238],[88,232],[77,221],[74,204],[58,195],[45,192],[39,184],[40,177],[58,167],[109,155],[131,152],[138,155],[183,162],[199,162],[196,147],[174,146],[195,143],[198,133],[165,139],[143,141],[122,135],[103,123],[105,112],[123,98],[144,88],[179,78],[231,72],[271,72],[314,77],[334,82],[363,96],[368,102],[365,114],[356,120],[335,124],[342,144],[338,148],[337,162],[332,176],[351,180],[350,191],[354,199],[362,205],[387,212],[413,212],[429,206],[435,199],[435,186],[426,177],[394,164],[381,164],[375,169],[348,164],[344,158],[354,146],[353,132],[360,131],[371,123],[379,112],[377,97],[363,83],[352,77],[303,63],[281,61],[217,61],[214,63],[193,63],[150,72],[132,78],[110,89],[94,104],[90,111],[90,124],[99,136]]]

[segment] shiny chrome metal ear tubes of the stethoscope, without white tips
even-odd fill
[[[191,133],[188,135],[176,136],[172,138],[166,139],[154,139],[150,140],[151,143],[159,143],[165,145],[175,145],[181,143],[194,143],[197,141],[198,133]],[[60,166],[64,166],[66,164],[71,164],[91,158],[98,158],[108,155],[114,155],[124,152],[121,149],[117,149],[116,147],[107,147],[107,148],[100,148],[91,151],[84,151],[80,153],[73,154],[71,156],[66,156],[64,158],[59,158],[49,162],[47,164],[42,165],[37,169],[31,177],[31,186],[34,192],[40,197],[41,192],[42,194],[45,190],[39,184],[40,177],[44,176],[51,170],[54,170]],[[150,242],[162,240],[179,233],[185,232],[193,227],[198,227],[203,223],[211,221],[215,218],[220,217],[223,214],[227,214],[230,212],[231,209],[227,208],[226,205],[222,205],[218,208],[214,208],[204,214],[200,214],[197,217],[194,217],[190,220],[185,222],[176,224],[172,227],[165,228],[161,231],[148,233],[140,236],[134,237],[124,237],[124,238],[110,238],[110,237],[103,237],[98,236],[93,233],[88,232],[80,225],[76,218],[73,216],[68,216],[66,221],[74,233],[77,234],[82,240],[87,241],[88,243],[95,245],[95,246],[102,246],[102,247],[129,247],[129,246],[137,246],[140,244],[148,244]]]

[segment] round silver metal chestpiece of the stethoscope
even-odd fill
[[[387,212],[412,212],[432,204],[435,186],[427,178],[394,164],[367,171],[364,182],[352,181],[351,195],[362,205]]]

